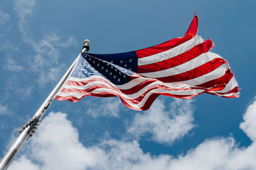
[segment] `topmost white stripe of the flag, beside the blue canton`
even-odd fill
[[[187,42],[184,42],[176,47],[173,47],[170,50],[165,50],[163,52],[159,52],[157,54],[147,56],[145,58],[138,58],[138,66],[149,65],[152,63],[157,63],[159,61],[164,61],[169,58],[173,58],[175,56],[178,56],[179,54],[182,54],[183,52],[192,49],[193,47],[202,42],[204,42],[203,38],[201,36],[195,35]]]

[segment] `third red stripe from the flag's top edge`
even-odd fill
[[[198,66],[193,70],[189,70],[188,72],[179,73],[177,75],[171,75],[168,77],[160,77],[157,80],[162,82],[179,82],[179,81],[188,81],[191,79],[195,79],[196,77],[200,77],[205,75],[206,73],[212,72],[219,66],[227,63],[225,59],[214,58],[212,61],[208,61],[204,65]]]

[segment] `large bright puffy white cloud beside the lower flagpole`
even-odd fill
[[[86,169],[95,164],[98,152],[85,148],[78,139],[77,129],[67,120],[67,114],[50,112],[36,136],[30,139],[28,155],[15,160],[13,165],[29,159],[38,162],[40,169]],[[13,165],[10,169],[15,169]]]

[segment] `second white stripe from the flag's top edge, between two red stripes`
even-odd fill
[[[200,56],[197,56],[194,59],[183,63],[182,65],[173,66],[172,68],[168,68],[166,70],[161,70],[158,72],[148,72],[148,73],[140,73],[140,75],[151,78],[160,78],[160,77],[168,77],[172,75],[177,75],[179,73],[188,72],[189,70],[193,70],[194,68],[204,65],[205,63],[211,61],[215,58],[221,58],[218,54],[214,54],[213,52],[205,52]]]

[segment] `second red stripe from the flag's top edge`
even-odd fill
[[[166,70],[172,68],[173,66],[178,66],[187,61],[196,58],[200,54],[208,52],[213,47],[211,40],[206,40],[203,43],[200,43],[193,47],[192,49],[164,61],[159,61],[154,64],[138,66],[138,73],[148,73],[148,72],[157,72],[160,70]]]

